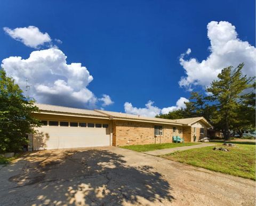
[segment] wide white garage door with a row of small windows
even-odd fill
[[[58,121],[58,125],[53,126],[51,123],[57,122],[47,121],[47,126],[38,129],[43,137],[35,135],[34,150],[110,145],[109,124]]]

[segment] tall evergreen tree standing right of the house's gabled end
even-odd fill
[[[212,81],[211,86],[206,88],[206,92],[212,94],[207,98],[216,109],[212,121],[215,128],[222,129],[225,139],[230,139],[230,129],[235,129],[239,123],[239,107],[242,102],[246,105],[245,89],[252,87],[252,78],[242,74],[243,66],[242,63],[234,70],[231,66],[222,69],[219,79]]]

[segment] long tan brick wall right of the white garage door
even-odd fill
[[[172,125],[163,125],[163,135],[155,137],[154,126],[159,124],[147,122],[114,121],[113,145],[159,144],[171,143],[172,136],[182,137],[182,127],[176,127],[173,133]]]

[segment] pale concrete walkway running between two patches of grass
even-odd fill
[[[144,152],[144,153],[157,156],[157,155],[173,153],[176,151],[190,150],[190,149],[201,148],[201,147],[206,147],[206,146],[214,146],[214,145],[215,144],[202,143],[202,144],[197,144],[197,145],[193,145],[193,146],[179,146],[179,147],[163,149],[163,150],[148,151],[148,152]]]

